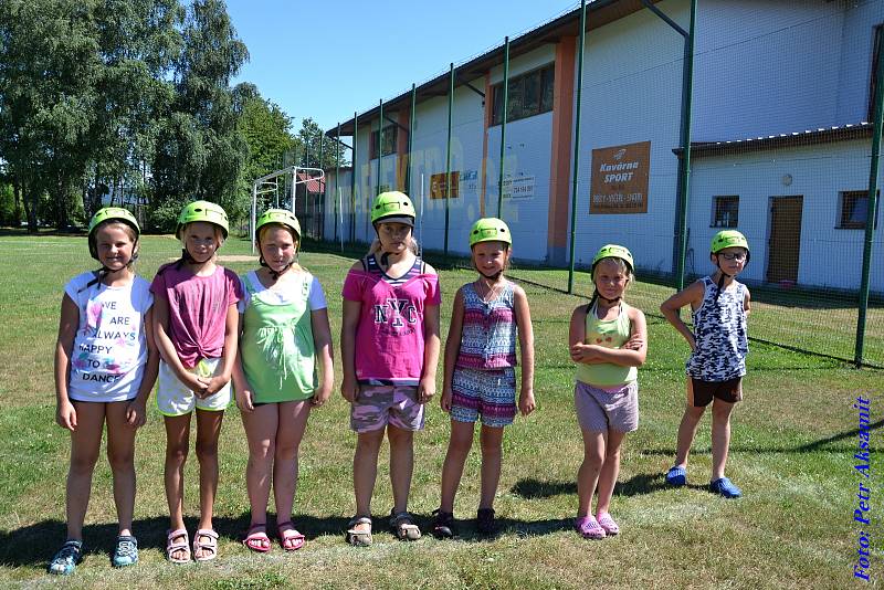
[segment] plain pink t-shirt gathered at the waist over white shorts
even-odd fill
[[[176,266],[161,267],[150,292],[169,302],[169,338],[181,365],[191,369],[202,358],[221,358],[228,308],[242,298],[242,285],[236,273],[223,266],[209,276]]]

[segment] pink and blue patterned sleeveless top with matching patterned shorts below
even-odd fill
[[[463,286],[463,329],[455,366],[503,369],[516,366],[516,314],[508,281],[491,302],[482,301],[473,283]]]

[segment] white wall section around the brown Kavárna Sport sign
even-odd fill
[[[657,6],[686,22],[685,0]],[[613,242],[629,247],[640,268],[671,272],[682,38],[644,10],[593,30],[587,39],[575,260],[589,265],[600,246]],[[638,141],[651,141],[648,212],[590,215],[592,149]]]

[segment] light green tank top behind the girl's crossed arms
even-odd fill
[[[583,344],[600,345],[606,348],[620,348],[629,340],[631,326],[625,303],[620,303],[620,314],[614,319],[601,320],[596,315],[598,302],[587,314],[586,339]],[[612,387],[630,383],[638,379],[638,367],[621,367],[612,362],[598,365],[577,364],[577,380],[590,386]]]

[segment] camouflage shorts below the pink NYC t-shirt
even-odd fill
[[[402,430],[423,429],[423,404],[414,386],[360,386],[350,407],[350,429],[370,432],[392,424]]]

